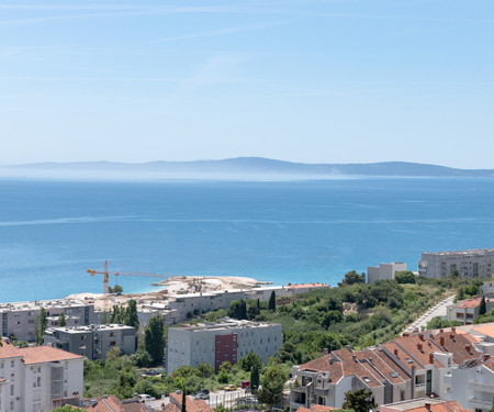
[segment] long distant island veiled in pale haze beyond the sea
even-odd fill
[[[343,176],[389,177],[493,177],[494,169],[458,169],[407,162],[369,164],[305,164],[263,157],[236,157],[222,160],[194,162],[78,162],[35,163],[0,167],[3,177],[72,177],[83,178],[249,178],[279,177],[324,179]]]

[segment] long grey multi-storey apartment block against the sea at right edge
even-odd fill
[[[458,252],[424,252],[418,261],[418,275],[444,278],[458,270],[463,278],[491,277],[494,269],[494,249]]]

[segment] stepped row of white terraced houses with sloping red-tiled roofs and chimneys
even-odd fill
[[[290,408],[341,408],[349,390],[370,389],[378,405],[451,390],[445,377],[458,365],[479,359],[472,343],[454,331],[426,337],[405,334],[364,350],[334,350],[293,368]],[[449,386],[448,386],[449,385]]]

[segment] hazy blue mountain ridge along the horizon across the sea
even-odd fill
[[[4,169],[49,171],[114,171],[157,174],[221,174],[221,175],[301,175],[316,176],[405,176],[405,177],[494,177],[494,169],[458,169],[446,166],[381,162],[369,164],[305,164],[263,157],[236,157],[221,160],[149,162],[139,164],[117,162],[36,163],[5,166]]]

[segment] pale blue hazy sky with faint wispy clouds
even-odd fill
[[[493,42],[492,0],[0,0],[0,164],[494,168]]]

